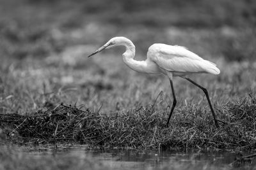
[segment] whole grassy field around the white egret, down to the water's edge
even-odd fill
[[[254,6],[250,0],[1,0],[1,139],[254,150]],[[114,36],[132,40],[137,60],[146,58],[153,43],[166,43],[186,46],[216,63],[219,75],[190,78],[209,91],[220,129],[214,127],[204,93],[189,81],[174,78],[177,106],[165,127],[172,106],[168,78],[129,69],[122,47],[87,58]],[[40,121],[46,117],[51,121]]]

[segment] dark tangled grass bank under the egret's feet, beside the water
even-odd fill
[[[152,106],[123,114],[99,115],[60,104],[33,115],[1,115],[3,132],[17,143],[85,143],[102,148],[218,148],[253,150],[256,146],[256,98],[229,103],[218,111],[221,127],[212,115],[188,107],[165,127],[166,114]],[[221,117],[220,117],[221,115]],[[21,139],[21,140],[20,140]]]

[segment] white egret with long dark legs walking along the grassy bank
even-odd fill
[[[216,67],[216,64],[209,60],[202,59],[184,46],[166,45],[163,43],[154,43],[151,45],[148,48],[146,60],[134,60],[135,46],[130,39],[122,36],[109,39],[105,45],[101,46],[98,50],[95,50],[95,52],[88,57],[102,52],[102,50],[113,48],[114,46],[125,46],[125,52],[122,54],[124,63],[134,71],[146,74],[164,74],[168,76],[172,89],[173,103],[166,122],[167,127],[177,103],[173,87],[174,76],[184,78],[203,90],[210,106],[212,117],[214,118],[214,124],[217,128],[219,127],[207,89],[198,85],[198,83],[188,77],[189,74],[195,73],[220,74],[220,69]]]

